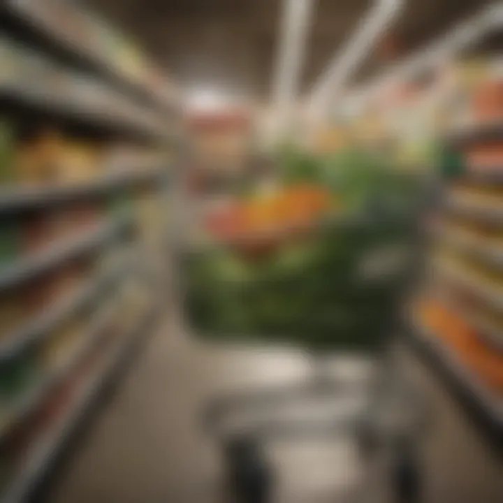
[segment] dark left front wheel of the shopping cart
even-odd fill
[[[270,503],[272,471],[256,439],[240,435],[225,446],[228,485],[236,503]]]

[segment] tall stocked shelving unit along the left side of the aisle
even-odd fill
[[[99,215],[78,232],[66,222],[66,236],[56,231],[37,251],[24,251],[0,264],[0,300],[31,289],[36,281],[57,282],[57,274],[64,277],[64,270],[82,263],[85,270],[92,271],[77,276],[78,284],[71,283],[71,291],[51,297],[43,309],[30,312],[3,334],[0,374],[17,360],[35,354],[36,379],[8,400],[0,390],[0,469],[14,467],[7,475],[0,474],[1,503],[22,503],[34,495],[101,392],[156,328],[163,312],[159,280],[168,274],[166,267],[159,267],[159,257],[166,260],[169,250],[164,229],[155,245],[147,239],[154,227],[146,220],[145,208],[152,201],[163,207],[171,190],[170,171],[183,148],[181,102],[173,85],[160,78],[159,71],[152,72],[153,65],[146,59],[140,66],[149,78],[129,71],[110,52],[97,50],[98,31],[89,31],[96,36],[84,37],[82,31],[80,40],[75,38],[78,30],[72,22],[61,23],[61,17],[54,15],[58,8],[66,11],[68,20],[81,27],[90,23],[87,28],[94,29],[96,20],[64,2],[1,3],[0,52],[9,55],[13,48],[18,52],[10,59],[14,64],[0,76],[0,110],[17,122],[30,123],[33,116],[37,124],[56,126],[72,140],[80,141],[82,136],[100,148],[110,140],[113,147],[122,142],[126,154],[131,145],[138,145],[148,155],[135,152],[133,162],[128,163],[122,154],[117,158],[112,148],[111,157],[103,158],[103,166],[93,166],[94,175],[78,178],[81,182],[65,177],[61,182],[30,185],[0,179],[2,224],[13,221],[21,225],[19,222],[47,214],[80,215],[89,206]],[[0,162],[6,163],[6,159],[0,157]],[[123,211],[124,201],[128,207]],[[165,212],[166,208],[159,214]],[[87,217],[81,218],[85,222]],[[156,229],[159,233],[159,227]],[[126,247],[130,251],[124,259],[121,254]],[[2,252],[0,248],[3,259]],[[111,264],[106,260],[110,256]],[[117,263],[117,256],[123,260]],[[128,297],[131,288],[145,294],[141,309],[127,308],[127,302],[135,298]],[[70,340],[69,352],[64,358],[58,356],[57,364],[48,363],[43,351],[49,351],[52,340],[75,319],[80,323],[78,339]],[[51,410],[54,400],[63,400],[64,405]],[[43,420],[43,428],[37,423],[39,414],[52,414]],[[15,449],[21,454],[13,450],[20,438],[24,438],[24,446]]]

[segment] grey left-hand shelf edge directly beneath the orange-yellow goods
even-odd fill
[[[0,188],[0,213],[13,213],[60,203],[73,203],[78,199],[103,196],[117,189],[156,183],[166,177],[166,170],[150,169],[138,171],[138,173],[111,175],[85,184],[36,188],[3,187]]]

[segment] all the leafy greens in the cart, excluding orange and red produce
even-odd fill
[[[289,147],[278,159],[286,183],[330,187],[352,219],[261,260],[228,250],[198,256],[187,270],[189,318],[213,337],[286,340],[311,348],[379,344],[407,271],[372,283],[360,265],[373,249],[409,243],[414,181],[358,150],[314,156]]]

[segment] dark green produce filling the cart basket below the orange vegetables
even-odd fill
[[[362,265],[390,242],[407,241],[395,221],[327,225],[250,260],[233,249],[187,263],[189,319],[214,337],[294,341],[308,347],[379,344],[392,323],[404,270],[368,280]]]

